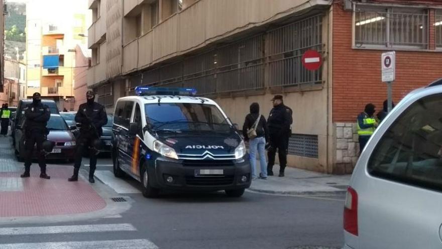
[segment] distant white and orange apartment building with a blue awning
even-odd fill
[[[75,46],[87,44],[86,0],[29,1],[26,5],[26,96],[39,92],[59,109],[73,109]]]

